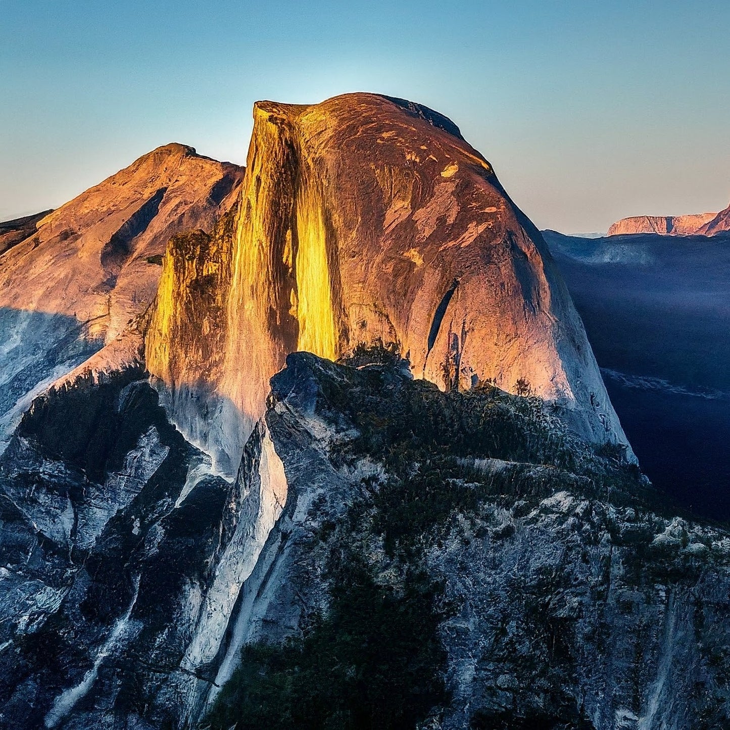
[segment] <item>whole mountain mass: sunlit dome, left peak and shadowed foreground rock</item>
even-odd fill
[[[730,535],[490,164],[403,99],[253,113],[245,170],[0,229],[0,727],[726,726]]]

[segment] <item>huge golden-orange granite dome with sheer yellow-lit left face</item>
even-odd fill
[[[529,388],[583,435],[625,441],[542,237],[453,123],[371,94],[261,102],[254,120],[234,229],[191,270],[198,285],[205,262],[226,269],[223,356],[201,371],[174,354],[187,342],[171,333],[197,327],[183,301],[193,279],[161,288],[147,334],[148,367],[183,429],[203,394],[239,414],[245,437],[286,353],[337,358],[382,342],[442,388]],[[180,266],[172,247],[164,282]]]

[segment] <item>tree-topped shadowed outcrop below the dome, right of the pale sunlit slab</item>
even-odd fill
[[[537,399],[296,353],[265,420],[287,502],[212,728],[730,721],[729,534]]]

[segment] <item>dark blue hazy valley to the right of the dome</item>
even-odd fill
[[[642,470],[730,520],[730,235],[543,234]]]

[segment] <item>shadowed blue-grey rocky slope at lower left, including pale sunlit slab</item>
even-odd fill
[[[189,727],[286,502],[268,434],[212,473],[142,367],[36,399],[0,457],[0,727]]]

